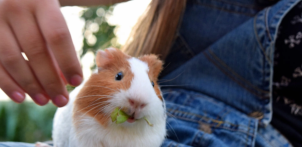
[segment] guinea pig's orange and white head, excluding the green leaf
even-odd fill
[[[164,100],[157,84],[163,63],[156,55],[134,58],[107,48],[98,51],[96,64],[98,72],[79,92],[74,111],[93,117],[103,126],[113,124],[110,114],[115,108],[130,115],[119,125],[148,125],[143,117],[155,125],[165,121]]]

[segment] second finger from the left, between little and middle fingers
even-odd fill
[[[44,96],[46,92],[44,92],[21,55],[21,50],[16,43],[17,41],[14,38],[14,34],[11,32],[11,28],[7,24],[4,24],[3,21],[0,23],[0,32],[2,33],[2,35],[0,35],[0,62],[3,66],[0,72],[4,74],[4,77],[2,78],[5,78],[2,82],[5,84],[11,83],[8,84],[11,86],[2,84],[1,88],[6,89],[4,90],[5,93],[11,97],[11,92],[16,91],[16,88],[10,88],[21,86],[21,88],[27,92],[38,105],[47,104],[48,99]],[[5,70],[8,75],[5,75]],[[15,86],[17,84],[19,86]]]

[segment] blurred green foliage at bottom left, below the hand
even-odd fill
[[[36,142],[51,139],[53,104],[0,102],[0,141]]]

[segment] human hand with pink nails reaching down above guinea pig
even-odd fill
[[[0,0],[0,88],[20,103],[63,107],[82,70],[57,0]],[[24,59],[24,52],[28,61]]]

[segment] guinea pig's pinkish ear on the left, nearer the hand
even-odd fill
[[[96,54],[96,65],[98,68],[105,67],[114,57],[114,52],[118,52],[117,48],[106,48],[103,50],[99,50]]]

